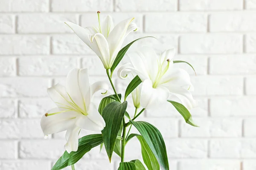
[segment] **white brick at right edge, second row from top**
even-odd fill
[[[221,31],[256,31],[255,12],[221,12],[209,17],[211,32]]]

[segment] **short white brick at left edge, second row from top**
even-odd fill
[[[15,32],[14,23],[15,23],[14,15],[0,14],[0,33],[14,33]]]

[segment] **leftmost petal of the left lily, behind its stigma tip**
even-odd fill
[[[64,111],[60,108],[53,108],[49,110],[47,113],[57,113]],[[41,128],[44,132],[44,135],[49,135],[52,133],[62,132],[64,130],[72,127],[76,122],[76,117],[79,114],[73,111],[68,111],[64,113],[58,113],[51,116],[43,115],[41,118]]]

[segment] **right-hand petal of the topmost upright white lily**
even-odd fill
[[[109,65],[110,67],[113,65],[116,55],[121,49],[122,43],[125,37],[127,36],[127,33],[137,28],[137,27],[135,28],[134,24],[131,27],[129,27],[129,25],[133,20],[134,18],[129,18],[127,20],[121,21],[119,24],[117,24],[113,28],[113,30],[111,31],[111,33],[107,38],[109,51],[110,51],[110,65]]]

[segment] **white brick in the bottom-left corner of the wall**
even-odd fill
[[[49,169],[49,161],[35,161],[35,160],[4,160],[0,161],[1,170],[46,170]]]

